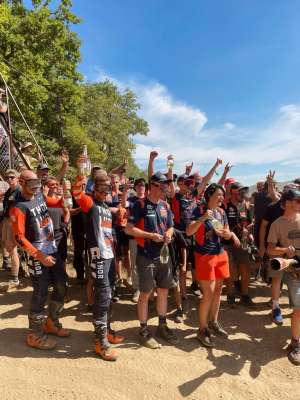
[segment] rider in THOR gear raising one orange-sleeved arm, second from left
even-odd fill
[[[83,191],[85,182],[85,177],[77,177],[73,187],[73,196],[86,218],[86,241],[90,253],[90,271],[94,286],[95,352],[103,360],[115,361],[117,354],[110,344],[121,343],[124,338],[117,336],[110,328],[115,260],[112,213],[106,204],[106,197],[111,191],[111,184],[106,173],[97,175],[94,181],[93,197],[91,197]]]

